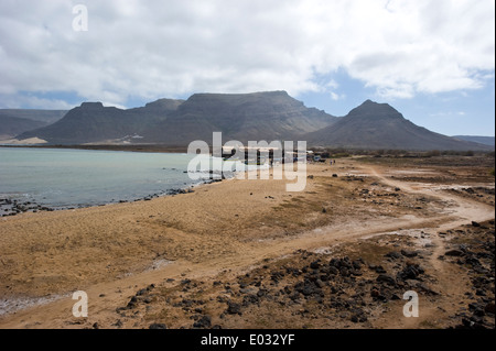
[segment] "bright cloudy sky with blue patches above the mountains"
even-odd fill
[[[0,108],[287,90],[494,135],[494,0],[0,0]]]

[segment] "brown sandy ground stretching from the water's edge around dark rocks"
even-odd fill
[[[456,326],[462,317],[452,316],[471,301],[465,294],[471,289],[470,268],[438,257],[455,246],[451,240],[456,239],[456,230],[466,231],[472,222],[485,223],[487,230],[471,234],[487,235],[493,230],[494,243],[494,176],[487,168],[347,158],[333,166],[309,165],[301,193],[288,193],[287,180],[229,179],[149,201],[2,218],[0,328],[148,328],[153,323],[192,328],[195,322],[198,328],[303,328],[304,320],[295,322],[302,318],[294,316],[300,310],[316,316],[311,328]],[[409,260],[414,263],[385,261],[387,252],[402,249],[423,254]],[[364,273],[356,279],[376,278],[374,270],[366,270],[373,262],[388,273],[402,268],[398,262],[420,264],[425,272],[422,284],[438,295],[422,293],[431,305],[423,318],[414,320],[402,318],[399,310],[405,301],[390,296],[387,306],[367,301],[364,321],[353,314],[327,318],[339,311],[327,307],[325,312],[324,305],[315,307],[319,303],[303,293],[300,304],[278,300],[281,295],[276,293],[283,294],[278,284],[290,289],[298,275],[283,275],[274,285],[273,272],[290,266],[301,271],[305,262],[344,256],[363,261]],[[254,276],[268,281],[259,279],[258,286],[242,281]],[[456,283],[453,277],[459,277]],[[339,284],[347,284],[343,279]],[[494,279],[492,284],[493,290],[489,283],[485,294],[494,300]],[[257,307],[242,305],[250,286],[265,287],[271,298]],[[327,289],[333,294],[328,284],[320,289],[325,297]],[[76,290],[88,294],[87,318],[72,314]],[[355,293],[346,294],[359,295]],[[367,298],[371,294],[360,293]],[[186,308],[185,299],[194,303]],[[235,307],[230,311],[236,312],[229,311],[235,301],[245,306],[239,314]],[[280,318],[271,319],[281,306]],[[443,311],[434,314],[438,307]],[[391,319],[391,314],[399,317]]]

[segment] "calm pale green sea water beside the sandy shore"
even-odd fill
[[[0,199],[60,207],[142,199],[201,183],[184,173],[194,155],[0,147]]]

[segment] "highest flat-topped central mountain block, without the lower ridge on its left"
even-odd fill
[[[195,94],[166,121],[145,133],[147,140],[168,144],[212,140],[292,140],[335,122],[335,117],[309,109],[285,91],[254,94]],[[164,138],[166,135],[166,138]]]

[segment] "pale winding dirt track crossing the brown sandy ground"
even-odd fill
[[[225,270],[230,270],[235,274],[236,272],[249,270],[263,259],[280,257],[298,249],[315,250],[330,248],[336,243],[391,232],[399,228],[429,228],[444,231],[472,220],[484,221],[494,218],[494,208],[490,206],[448,195],[440,190],[434,191],[428,185],[411,185],[407,182],[387,178],[378,167],[360,165],[359,168],[360,172],[369,174],[382,184],[399,187],[402,191],[436,197],[446,202],[446,211],[435,219],[408,216],[399,219],[368,220],[364,223],[359,221],[359,218],[355,218],[355,220],[333,227],[308,231],[298,237],[239,243],[236,252],[216,255],[212,259],[205,257],[198,263],[192,263],[188,260],[177,260],[159,270],[131,275],[114,282],[96,284],[86,289],[89,297],[89,320],[98,322],[112,321],[116,308],[126,306],[129,297],[138,288],[152,283],[160,284],[166,278],[174,278],[177,282],[184,278],[213,277]],[[443,252],[444,243],[441,239],[435,238],[434,245],[435,254],[432,255],[432,265],[435,270],[444,271],[446,266],[439,260],[435,260],[438,253],[441,254]],[[446,292],[450,292],[453,285],[449,277],[442,284],[444,284]],[[73,325],[76,322],[76,319],[72,317],[74,303],[75,300],[72,300],[69,296],[42,306],[19,310],[13,315],[1,318],[0,328],[78,328],[77,323]],[[405,323],[405,326],[399,327],[414,327],[412,325],[414,323],[413,319]]]

